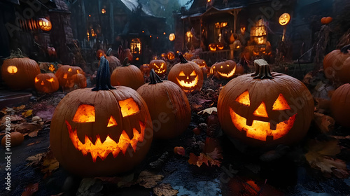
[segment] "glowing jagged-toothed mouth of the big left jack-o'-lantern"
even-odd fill
[[[87,137],[87,135],[85,135],[84,143],[81,142],[78,138],[76,128],[73,130],[71,125],[66,120],[66,127],[69,131],[69,137],[73,146],[76,148],[76,150],[81,151],[83,155],[87,155],[88,153],[90,153],[93,162],[96,162],[97,157],[104,160],[105,158],[107,158],[109,153],[112,153],[114,158],[118,156],[120,151],[122,151],[122,153],[125,155],[128,146],[132,146],[132,149],[134,150],[134,152],[136,152],[137,144],[139,142],[144,141],[144,134],[146,129],[145,123],[139,121],[139,124],[141,132],[137,131],[136,128],[133,128],[134,137],[132,137],[132,139],[130,139],[127,133],[123,130],[122,134],[120,134],[118,142],[116,142],[117,140],[115,141],[109,136],[107,136],[104,142],[102,142],[99,135],[97,135],[96,141],[93,144],[91,139]]]

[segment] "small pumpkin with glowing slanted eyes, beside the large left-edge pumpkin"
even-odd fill
[[[58,79],[53,73],[39,73],[35,78],[35,88],[39,92],[56,92],[59,88]]]

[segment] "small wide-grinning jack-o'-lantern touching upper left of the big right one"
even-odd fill
[[[236,62],[227,60],[225,62],[216,62],[211,66],[211,74],[218,79],[231,79],[235,77]]]

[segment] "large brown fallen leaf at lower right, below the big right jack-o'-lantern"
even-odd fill
[[[331,177],[333,174],[339,179],[346,179],[350,176],[350,171],[343,160],[334,158],[338,153],[340,147],[336,139],[312,140],[309,142],[309,152],[305,154],[305,158],[312,168],[321,170],[324,176]]]

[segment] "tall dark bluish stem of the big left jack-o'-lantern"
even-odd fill
[[[116,89],[111,85],[111,74],[109,72],[109,61],[102,56],[96,76],[96,87],[92,91]]]

